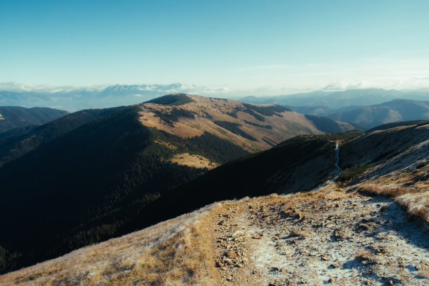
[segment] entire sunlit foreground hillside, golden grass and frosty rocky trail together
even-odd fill
[[[427,285],[428,233],[407,217],[389,198],[332,184],[222,201],[3,275],[0,284]]]

